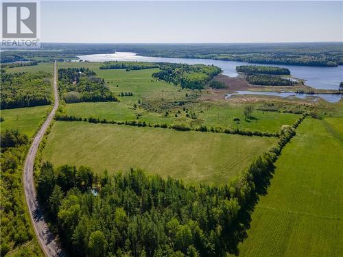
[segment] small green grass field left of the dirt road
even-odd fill
[[[1,110],[1,117],[5,119],[0,123],[1,131],[19,130],[32,137],[49,108],[50,106],[36,106]]]

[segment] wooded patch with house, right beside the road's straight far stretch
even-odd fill
[[[58,69],[60,96],[66,103],[80,101],[118,101],[106,86],[104,79],[97,77],[88,68]]]

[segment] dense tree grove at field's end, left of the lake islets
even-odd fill
[[[152,74],[152,77],[191,89],[204,88],[215,75],[222,72],[217,66],[204,64],[161,63],[160,69],[161,71]]]

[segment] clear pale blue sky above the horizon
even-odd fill
[[[42,1],[41,42],[343,41],[343,1]]]

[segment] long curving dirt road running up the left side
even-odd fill
[[[54,119],[55,112],[58,108],[58,90],[57,90],[57,62],[54,64],[54,97],[55,104],[54,108],[51,110],[49,116],[40,127],[39,132],[36,134],[31,147],[29,147],[29,153],[27,154],[23,173],[23,185],[25,191],[25,199],[27,206],[29,208],[29,216],[31,218],[32,224],[34,225],[34,232],[37,236],[40,247],[43,249],[45,256],[64,256],[62,249],[55,240],[54,234],[52,234],[45,223],[43,218],[43,212],[38,206],[36,199],[36,191],[34,190],[34,159],[36,153],[51,120]]]

